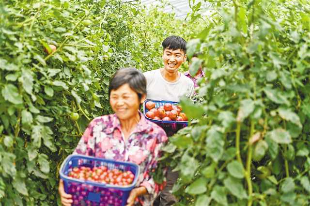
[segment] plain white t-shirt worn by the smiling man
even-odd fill
[[[166,81],[160,69],[143,73],[146,78],[146,98],[179,102],[181,96],[189,97],[193,94],[194,83],[191,79],[180,73],[176,82]]]

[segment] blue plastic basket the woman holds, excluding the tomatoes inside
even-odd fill
[[[74,167],[106,166],[109,170],[118,169],[131,171],[135,178],[130,185],[116,186],[99,182],[81,180],[69,177]],[[135,187],[140,174],[139,165],[131,162],[115,161],[112,159],[95,158],[84,155],[69,155],[60,168],[60,177],[64,190],[73,196],[72,206],[125,206],[130,191]],[[83,199],[81,198],[83,197]],[[110,197],[110,199],[108,199]]]

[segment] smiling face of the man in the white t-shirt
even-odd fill
[[[164,68],[167,72],[178,71],[183,62],[186,61],[186,54],[181,49],[172,50],[165,48],[163,53]]]

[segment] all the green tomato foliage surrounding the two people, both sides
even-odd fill
[[[0,2],[0,205],[58,205],[59,166],[111,112],[112,74],[159,68],[171,34],[191,39],[206,73],[161,159],[179,171],[178,205],[309,205],[309,2],[189,3],[183,21],[138,1]]]

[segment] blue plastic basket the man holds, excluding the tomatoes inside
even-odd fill
[[[179,102],[173,102],[173,101],[158,101],[158,100],[153,100],[153,99],[146,99],[144,102],[143,102],[143,115],[145,116],[146,119],[150,120],[151,122],[154,122],[156,123],[159,127],[162,127],[167,136],[172,136],[173,134],[175,134],[178,130],[184,128],[184,127],[187,127],[188,125],[188,121],[165,121],[165,120],[156,120],[156,119],[151,119],[151,118],[148,118],[146,116],[146,112],[148,112],[148,109],[145,108],[145,104],[146,102],[149,102],[149,101],[152,101],[155,103],[155,108],[159,108],[161,106],[164,106],[166,103],[170,103],[172,105],[178,105]]]

